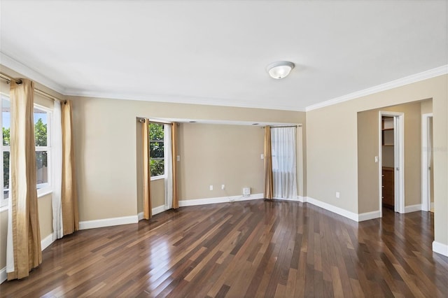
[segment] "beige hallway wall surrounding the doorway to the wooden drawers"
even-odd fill
[[[421,103],[401,104],[358,113],[358,213],[379,211],[379,111],[405,115],[405,206],[421,204]],[[393,147],[383,147],[390,150]],[[384,159],[383,165],[393,167]]]

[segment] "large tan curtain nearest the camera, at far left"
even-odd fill
[[[42,262],[36,190],[34,83],[25,79],[22,83],[11,80],[10,101],[11,218],[8,229],[12,237],[8,235],[8,250],[13,260],[8,254],[8,280],[29,276],[29,271]]]

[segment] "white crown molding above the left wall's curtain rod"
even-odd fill
[[[56,83],[54,80],[43,76],[42,73],[35,71],[34,69],[30,69],[25,64],[18,62],[17,60],[9,57],[8,55],[0,52],[0,64],[8,67],[8,69],[12,69],[20,73],[22,76],[29,78],[30,80],[34,80],[35,82],[44,85],[60,94],[65,94],[65,88]]]

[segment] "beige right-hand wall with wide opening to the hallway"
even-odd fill
[[[448,76],[438,76],[307,112],[307,196],[353,213],[370,210],[358,204],[358,112],[432,98],[435,241],[448,245],[447,86]]]

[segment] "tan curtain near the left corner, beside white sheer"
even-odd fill
[[[76,171],[73,144],[72,101],[61,106],[62,121],[62,227],[64,235],[79,229],[78,194],[76,192]]]

